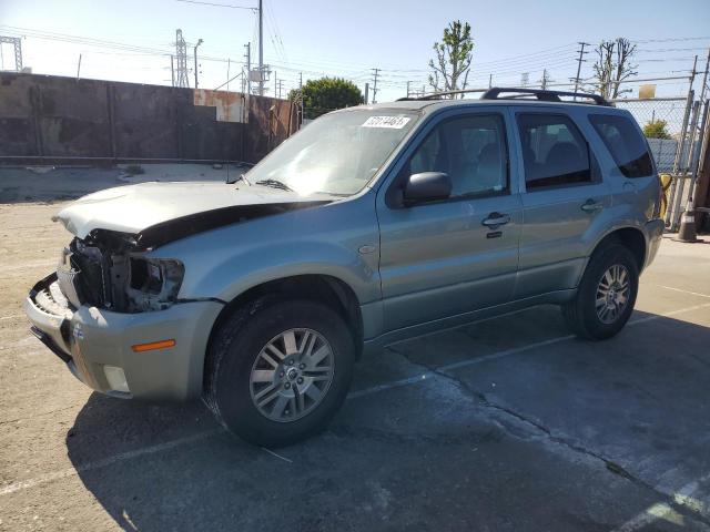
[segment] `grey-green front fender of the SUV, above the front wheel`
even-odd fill
[[[366,195],[210,231],[151,255],[183,262],[184,299],[230,301],[270,280],[328,275],[364,305],[381,299],[378,244],[374,203]]]

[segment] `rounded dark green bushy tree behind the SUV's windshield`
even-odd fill
[[[292,101],[303,101],[306,119],[317,119],[336,109],[363,103],[363,93],[352,81],[343,78],[308,80],[302,89],[288,93]]]

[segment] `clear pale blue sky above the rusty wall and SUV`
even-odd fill
[[[256,6],[256,0],[205,1]],[[487,85],[490,74],[494,84],[519,84],[524,72],[534,83],[544,68],[554,81],[567,82],[576,73],[578,41],[596,44],[616,37],[639,41],[639,78],[684,75],[694,54],[704,65],[710,45],[708,0],[265,0],[264,14],[265,62],[286,89],[297,84],[300,72],[304,80],[335,74],[364,86],[372,81],[371,69],[379,68],[379,101],[404,95],[406,81],[418,88],[426,82],[432,45],[454,19],[473,27],[470,84],[476,86]],[[0,34],[24,35],[24,64],[39,73],[77,75],[81,53],[82,78],[170,84],[168,54],[176,28],[190,43],[204,40],[199,61],[202,88],[226,81],[227,68],[231,75],[239,73],[246,42],[254,44],[255,61],[256,17],[250,10],[178,0],[0,0]],[[70,37],[47,39],[48,32]],[[75,37],[139,49],[90,45],[75,42]],[[3,52],[10,64],[10,48],[4,45]],[[582,78],[591,75],[592,54],[586,59]],[[270,86],[273,94],[273,82]],[[237,89],[239,82],[230,88]],[[658,83],[658,92],[667,95],[687,88],[687,82]]]

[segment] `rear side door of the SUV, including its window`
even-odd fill
[[[528,109],[515,110],[525,177],[516,299],[577,286],[611,200],[580,121]]]

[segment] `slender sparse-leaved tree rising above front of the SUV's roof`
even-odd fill
[[[434,43],[436,62],[430,59],[429,85],[436,91],[458,91],[466,89],[473,58],[474,40],[470,24],[455,20],[444,29],[442,42]],[[463,76],[463,83],[459,80]],[[454,98],[452,95],[452,98]],[[463,98],[463,95],[462,95]]]

